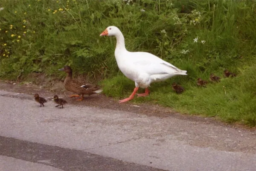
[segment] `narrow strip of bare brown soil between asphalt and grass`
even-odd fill
[[[160,105],[154,105],[150,103],[143,104],[133,104],[132,101],[128,103],[119,103],[118,100],[115,100],[112,97],[106,97],[104,94],[93,94],[90,96],[84,96],[84,100],[79,102],[76,101],[75,98],[68,97],[73,94],[70,91],[65,91],[63,88],[63,82],[60,80],[45,80],[44,76],[39,75],[41,79],[38,79],[38,84],[35,85],[32,82],[21,82],[15,83],[8,80],[0,80],[0,89],[4,91],[14,91],[17,93],[24,94],[33,94],[38,93],[42,97],[53,97],[57,94],[59,97],[67,100],[69,104],[72,105],[85,105],[99,108],[108,108],[113,110],[121,110],[121,111],[130,111],[134,113],[145,114],[147,116],[155,116],[155,117],[175,117],[180,120],[190,120],[195,122],[200,122],[204,124],[214,124],[214,125],[222,125],[236,128],[247,128],[243,125],[227,125],[222,123],[220,120],[214,117],[201,117],[198,115],[186,115],[179,114],[174,111],[172,108],[163,107]],[[43,80],[43,81],[42,81]],[[143,97],[140,97],[143,98]],[[255,130],[255,128],[247,128],[250,130]]]

